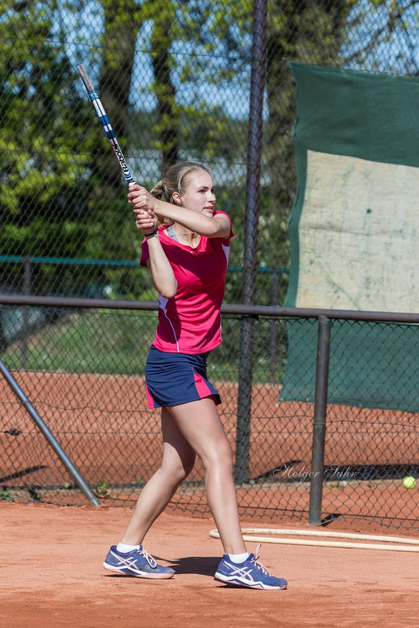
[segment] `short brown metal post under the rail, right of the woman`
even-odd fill
[[[308,523],[320,526],[324,477],[324,443],[326,435],[327,384],[329,379],[330,319],[318,317],[317,369],[314,398],[312,475]]]

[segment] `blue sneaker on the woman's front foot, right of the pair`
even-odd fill
[[[286,580],[275,578],[266,567],[258,563],[260,546],[259,543],[256,548],[256,556],[251,554],[244,563],[232,563],[229,556],[224,554],[215,573],[215,580],[226,582],[227,585],[240,585],[241,587],[268,590],[285,589]]]

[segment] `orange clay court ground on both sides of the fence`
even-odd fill
[[[102,457],[99,454],[107,445],[115,441],[123,445],[133,437],[139,452],[148,455],[149,472],[158,465],[158,424],[153,413],[144,407],[142,382],[138,378],[60,373],[21,373],[17,377],[24,389],[31,389],[33,403],[89,480],[117,469],[122,474],[132,472],[128,464],[124,466],[109,453]],[[234,403],[237,387],[224,384],[221,392],[229,399],[229,404]],[[16,470],[16,465],[22,468],[28,464],[34,428],[5,387],[2,403],[8,409],[4,428],[21,430],[17,436],[1,435],[10,460],[12,453],[14,457],[9,468],[3,470],[6,474]],[[363,431],[360,425],[362,412],[366,410],[352,409],[352,414],[346,408],[339,411],[340,415],[338,409],[334,409],[330,425],[329,460],[336,460],[332,452],[337,445],[342,461],[353,462],[362,451],[367,452],[364,455],[368,459],[377,434],[381,440],[384,438],[388,458],[396,460],[401,441],[411,438],[416,425],[410,422],[411,416],[400,413],[393,419],[397,434],[389,436],[389,415],[383,411],[372,411],[373,420],[364,425]],[[280,404],[275,387],[265,386],[263,390],[255,387],[251,450],[254,474],[270,468],[269,452],[273,447],[276,452],[287,451],[286,443],[295,437],[287,421],[290,418],[295,421],[296,417],[300,436],[294,438],[293,443],[300,463],[308,463],[311,442],[307,435],[310,434],[312,406]],[[342,447],[348,419],[355,447],[351,447],[349,441]],[[413,419],[417,420],[415,416]],[[234,416],[223,414],[222,420],[233,444]],[[368,427],[370,425],[374,429]],[[370,443],[369,449],[361,450],[362,438]],[[38,462],[43,463],[43,469],[34,471],[31,481],[52,480],[59,463],[43,438],[37,437],[35,442],[36,456]],[[202,477],[199,464],[194,477]],[[368,494],[369,501],[365,501]],[[308,495],[307,482],[289,485],[267,480],[256,487],[239,487],[242,527],[308,529],[307,514],[303,519],[290,516],[298,509],[307,513]],[[325,485],[326,511],[330,508],[365,515],[367,507],[371,508],[371,497],[376,500],[378,516],[383,516],[386,503],[393,499],[391,503],[398,505],[400,516],[415,521],[417,489],[403,491],[383,482],[377,485],[359,482],[350,491]],[[84,498],[79,499],[79,503],[85,503]],[[95,509],[85,505],[59,507],[1,502],[0,533],[8,549],[3,552],[1,623],[8,628],[49,625],[416,628],[418,553],[264,543],[261,563],[276,575],[286,577],[288,590],[227,588],[214,580],[222,548],[219,540],[209,537],[215,524],[205,512],[203,490],[195,487],[189,494],[185,490],[175,495],[172,506],[185,509],[188,504],[197,512],[196,516],[178,510],[165,511],[147,535],[146,549],[176,571],[172,580],[153,582],[119,577],[102,568],[109,545],[119,541],[126,526],[130,516],[128,507]],[[257,517],[246,516],[246,504],[253,504],[251,511]],[[254,504],[259,506],[254,507]],[[286,516],[281,514],[281,504],[288,508]],[[268,511],[271,516],[266,517]],[[403,536],[403,531],[383,531],[377,522],[363,519],[352,522],[338,519],[332,521],[327,530]],[[404,536],[412,538],[415,532],[405,531]],[[247,546],[249,551],[256,549],[256,543],[248,542]]]

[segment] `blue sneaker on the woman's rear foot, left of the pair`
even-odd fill
[[[171,578],[175,573],[171,567],[158,565],[142,545],[126,553],[117,551],[116,545],[112,545],[103,566],[109,571],[136,578]]]

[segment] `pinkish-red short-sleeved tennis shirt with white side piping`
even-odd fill
[[[226,212],[216,211],[231,219]],[[153,345],[170,353],[200,354],[215,349],[221,342],[220,306],[224,298],[229,261],[230,230],[227,239],[201,236],[198,246],[181,244],[159,227],[160,244],[178,283],[175,296],[159,297],[158,326]],[[144,238],[141,266],[150,257]]]

